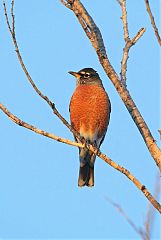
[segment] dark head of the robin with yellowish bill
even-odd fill
[[[102,81],[98,73],[93,68],[83,68],[79,72],[69,72],[77,79],[77,85],[102,85]]]

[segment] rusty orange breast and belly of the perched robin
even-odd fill
[[[78,85],[70,102],[73,127],[85,138],[104,136],[110,118],[110,101],[99,85]],[[89,136],[88,136],[89,135]]]

